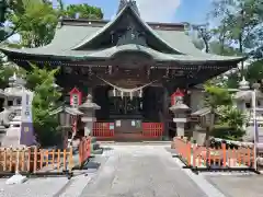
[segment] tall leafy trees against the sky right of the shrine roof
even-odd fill
[[[211,3],[208,19],[213,26],[190,25],[198,35],[194,44],[211,54],[247,56],[253,60],[248,68],[241,62],[236,73],[228,77],[227,86],[238,88],[242,76],[251,83],[262,80],[263,1],[213,0]]]

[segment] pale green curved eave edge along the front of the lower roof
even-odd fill
[[[5,49],[2,49],[3,51]],[[12,49],[13,53],[18,53],[21,55],[27,54],[31,55],[32,49]],[[113,58],[116,54],[119,53],[128,53],[128,51],[136,51],[136,53],[144,53],[150,56],[152,59],[158,61],[176,61],[176,62],[196,62],[196,63],[205,63],[207,61],[237,61],[237,57],[222,57],[217,55],[171,55],[171,54],[163,54],[151,48],[129,44],[129,45],[122,45],[122,46],[114,46],[111,48],[106,48],[103,50],[58,50],[58,51],[50,51],[48,49],[41,51],[38,55],[41,56],[49,56],[56,57],[60,59],[75,59],[75,60],[92,60],[92,59],[110,59]],[[239,58],[241,60],[241,58]]]

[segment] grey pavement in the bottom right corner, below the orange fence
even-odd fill
[[[263,197],[262,175],[207,175],[206,178],[226,197]]]

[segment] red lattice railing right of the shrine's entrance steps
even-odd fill
[[[142,136],[147,138],[160,138],[163,135],[162,123],[142,123]]]

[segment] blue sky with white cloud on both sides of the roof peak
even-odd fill
[[[111,19],[119,0],[64,0],[69,3],[88,3],[100,7],[104,19]],[[210,0],[136,0],[141,16],[155,22],[205,23]]]

